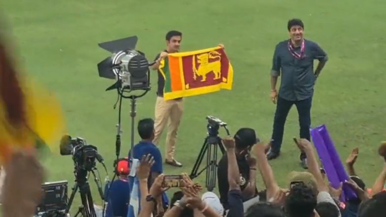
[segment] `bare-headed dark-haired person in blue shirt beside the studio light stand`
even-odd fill
[[[155,136],[154,120],[150,118],[140,120],[138,134],[142,140],[133,147],[133,158],[141,159],[143,155],[150,154],[155,160],[148,178],[148,189],[150,189],[155,179],[163,172],[161,152],[152,142]],[[167,196],[163,193],[160,198],[157,198],[157,213],[163,213],[163,210],[167,208],[167,203]]]

